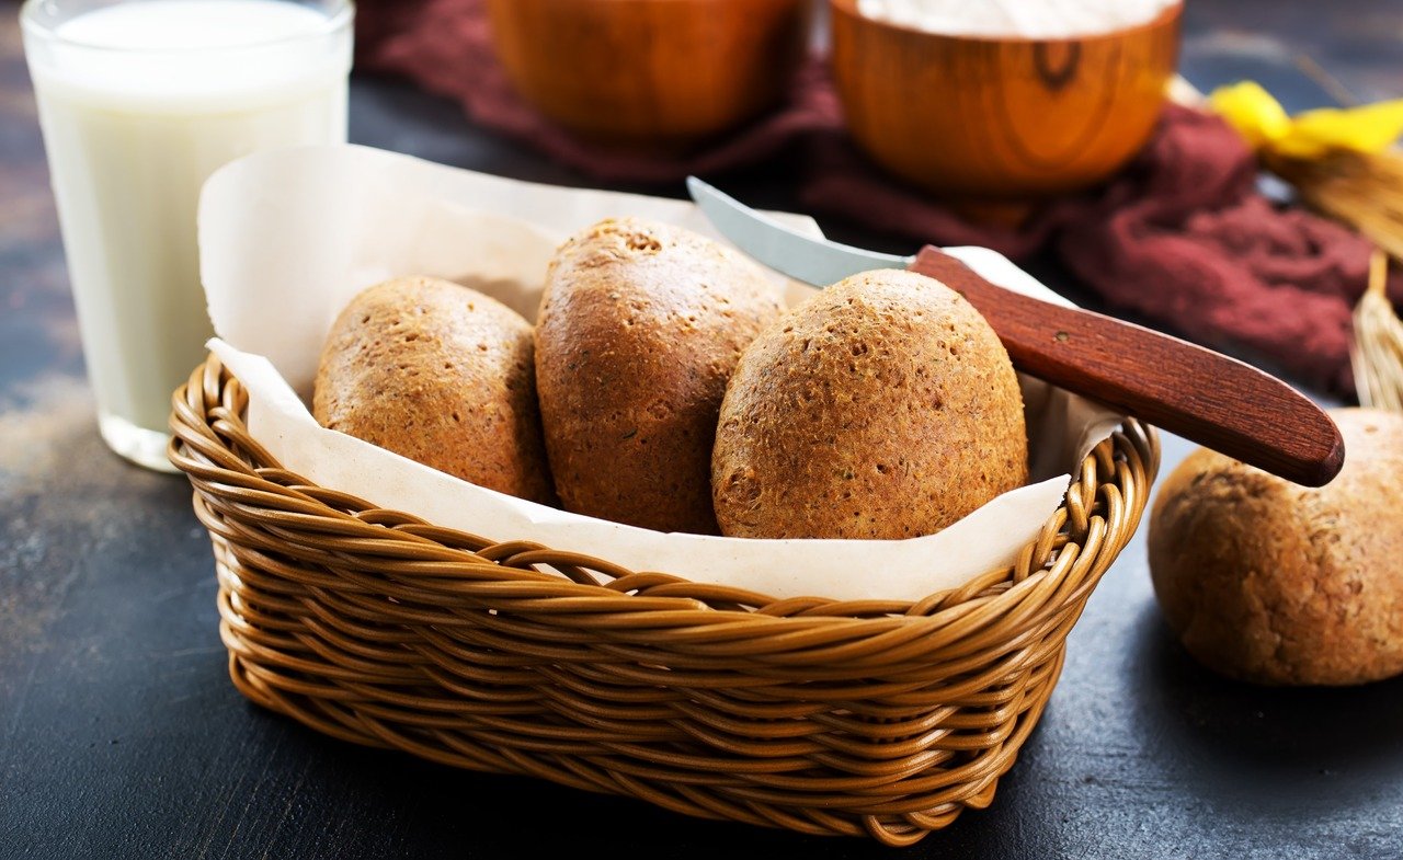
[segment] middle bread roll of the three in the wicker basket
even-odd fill
[[[605,220],[561,246],[536,321],[536,380],[564,508],[714,535],[725,382],[780,310],[755,264],[680,227]]]

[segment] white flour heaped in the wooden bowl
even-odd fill
[[[1065,39],[1115,32],[1181,0],[857,0],[868,17],[926,32]]]

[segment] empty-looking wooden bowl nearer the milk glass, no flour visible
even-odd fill
[[[488,0],[523,98],[592,140],[685,149],[779,101],[808,0]]]

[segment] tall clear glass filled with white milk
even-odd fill
[[[352,17],[349,0],[21,8],[98,428],[123,457],[173,470],[171,393],[205,356],[201,184],[254,150],[345,142]]]

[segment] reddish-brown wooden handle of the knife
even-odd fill
[[[1344,466],[1340,429],[1315,403],[1251,365],[1089,310],[989,283],[934,247],[911,269],[964,295],[1013,366],[1306,487]]]

